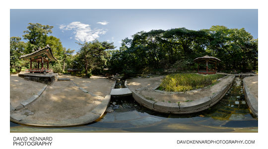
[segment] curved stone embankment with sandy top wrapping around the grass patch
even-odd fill
[[[163,113],[193,113],[216,104],[229,90],[235,76],[227,75],[211,87],[174,94],[155,91],[163,76],[146,79],[130,79],[127,86],[133,92],[133,98],[141,105]]]

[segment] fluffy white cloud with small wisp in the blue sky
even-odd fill
[[[91,29],[90,25],[81,22],[71,22],[68,25],[60,25],[61,30],[73,30],[75,39],[80,42],[90,42],[99,38],[99,35],[104,35],[107,31],[103,29]]]

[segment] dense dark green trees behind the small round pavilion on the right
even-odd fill
[[[120,50],[111,52],[107,62],[111,73],[142,73],[146,69],[161,71],[172,67],[196,71],[193,60],[204,55],[222,60],[218,70],[258,69],[258,39],[253,39],[244,28],[212,26],[199,31],[175,28],[138,32],[132,37],[122,40]]]

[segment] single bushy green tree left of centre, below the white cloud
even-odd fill
[[[83,44],[78,43],[81,48],[77,52],[77,60],[83,65],[85,74],[88,74],[88,71],[91,71],[93,68],[104,65],[104,56],[107,54],[105,50],[114,49],[113,44],[114,43],[99,42],[98,40],[92,42],[85,41]]]

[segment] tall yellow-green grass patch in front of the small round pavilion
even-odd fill
[[[217,79],[224,76],[225,75],[220,74],[170,74],[163,79],[158,90],[167,92],[186,92],[213,85],[216,83]]]

